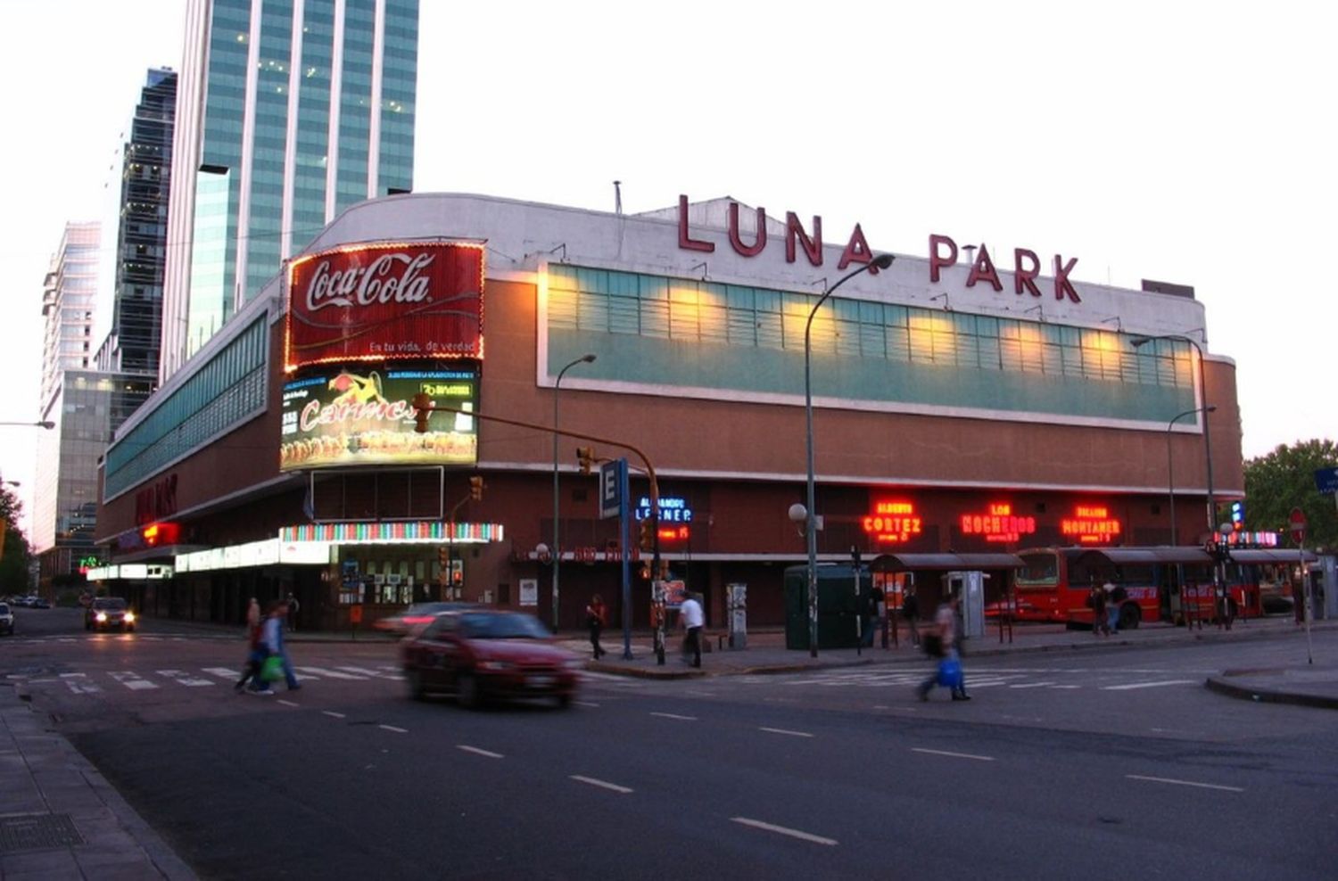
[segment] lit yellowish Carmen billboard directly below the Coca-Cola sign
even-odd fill
[[[471,365],[359,365],[306,369],[284,385],[280,471],[351,465],[472,465],[478,420],[436,412],[413,430],[413,396],[474,410],[479,374]]]

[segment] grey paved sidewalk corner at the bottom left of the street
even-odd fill
[[[0,877],[194,878],[16,688],[0,686]]]

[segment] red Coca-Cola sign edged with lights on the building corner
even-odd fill
[[[483,356],[483,246],[396,242],[294,259],[284,366]]]

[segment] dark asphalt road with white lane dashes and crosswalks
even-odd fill
[[[29,615],[54,632],[20,622],[4,674],[206,878],[1272,880],[1338,865],[1338,713],[1202,687],[1286,660],[1295,640],[967,658],[966,703],[921,703],[921,671],[888,664],[591,676],[570,710],[471,713],[408,701],[388,644],[294,644],[304,688],[258,698],[229,686],[240,634],[87,635],[70,612]]]

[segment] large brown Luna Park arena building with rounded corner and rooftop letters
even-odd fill
[[[1198,544],[1206,432],[1214,496],[1243,495],[1235,366],[1191,336],[1192,290],[1090,285],[1072,255],[946,234],[880,271],[874,255],[859,225],[729,199],[355,206],[118,433],[96,578],[214,620],[290,590],[317,627],[442,596],[577,627],[593,592],[621,620],[589,447],[629,459],[638,521],[654,472],[660,552],[712,622],[745,586],[749,619],[776,624],[807,556],[805,361],[820,561]]]

